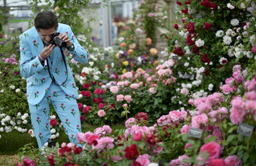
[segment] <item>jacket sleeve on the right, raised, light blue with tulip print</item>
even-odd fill
[[[77,39],[74,37],[74,34],[70,26],[68,26],[68,28],[69,30],[66,32],[66,34],[68,33],[70,37],[70,41],[72,41],[74,44],[74,51],[70,51],[70,53],[72,54],[76,62],[86,63],[88,60],[87,52],[85,51],[84,48],[82,48],[82,46],[79,44]]]

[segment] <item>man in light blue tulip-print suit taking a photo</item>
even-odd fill
[[[76,135],[81,132],[76,102],[78,93],[67,63],[67,54],[70,53],[77,62],[86,63],[87,52],[74,37],[70,26],[58,23],[52,11],[40,12],[34,25],[20,35],[20,73],[27,82],[32,129],[38,146],[42,148],[46,142],[50,142],[49,102],[61,119],[70,142],[78,143]],[[55,45],[50,44],[44,47],[55,32],[59,32],[58,37],[67,43],[68,51],[63,48],[64,59],[58,46],[55,48]]]

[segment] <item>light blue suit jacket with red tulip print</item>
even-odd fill
[[[57,32],[67,34],[70,37],[75,48],[74,51],[70,51],[70,54],[77,62],[86,63],[88,60],[87,52],[74,37],[70,26],[59,23]],[[61,85],[61,88],[67,93],[66,98],[69,100],[70,97],[78,98],[72,70],[68,63],[67,70],[64,65],[64,60],[67,62],[67,57],[65,56],[65,59],[63,59],[60,48],[56,47],[50,55],[52,62],[48,58],[49,64],[42,65],[38,55],[43,48],[43,41],[35,27],[20,35],[20,74],[26,78],[28,103],[32,105],[38,104],[49,89],[52,79],[49,76],[47,65],[49,65],[50,73],[52,73],[52,76],[54,76],[55,81],[59,85],[67,79],[67,82]],[[54,93],[52,96],[48,96],[48,101],[52,97],[58,97],[58,94]]]

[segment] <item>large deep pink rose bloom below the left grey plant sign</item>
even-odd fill
[[[215,142],[208,142],[200,148],[200,153],[203,153],[204,151],[209,153],[209,158],[207,160],[219,158],[221,154],[221,146]]]

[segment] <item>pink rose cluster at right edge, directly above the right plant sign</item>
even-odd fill
[[[233,97],[231,101],[230,121],[233,124],[243,122],[250,115],[256,121],[256,92],[251,91],[244,94],[244,98]]]

